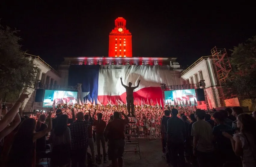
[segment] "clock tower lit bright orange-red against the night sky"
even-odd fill
[[[115,29],[109,33],[109,57],[132,57],[132,33],[126,29],[126,20],[118,17],[115,20]]]

